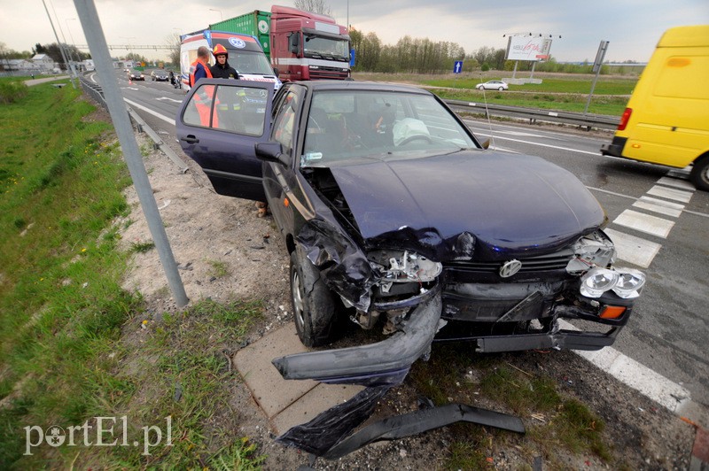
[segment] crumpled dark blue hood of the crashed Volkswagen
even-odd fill
[[[401,228],[440,239],[469,232],[477,256],[557,250],[604,224],[605,212],[571,173],[542,158],[460,151],[431,158],[332,166],[365,241]]]

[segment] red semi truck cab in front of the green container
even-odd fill
[[[347,28],[326,15],[273,5],[271,63],[282,81],[350,76]]]

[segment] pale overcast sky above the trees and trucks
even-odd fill
[[[12,50],[56,42],[42,0],[0,0],[0,42]],[[44,0],[60,41],[86,44],[72,0]],[[270,11],[264,1],[94,0],[106,42],[164,45],[188,33],[253,10]],[[291,0],[277,4],[292,5]],[[668,27],[709,24],[709,0],[331,0],[332,16],[384,44],[402,36],[456,42],[466,53],[507,46],[504,34],[554,35],[551,55],[558,61],[590,60],[598,43],[610,41],[605,59],[647,61]],[[558,36],[561,35],[561,38]],[[145,58],[163,50],[136,50]],[[112,56],[127,53],[111,51]]]

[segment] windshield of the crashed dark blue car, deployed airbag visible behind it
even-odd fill
[[[426,158],[477,147],[469,132],[431,95],[320,91],[310,105],[300,166]]]

